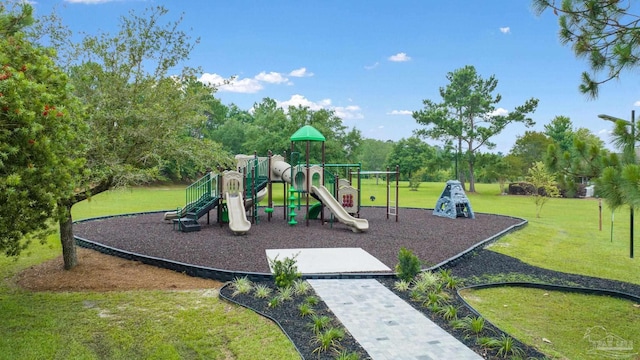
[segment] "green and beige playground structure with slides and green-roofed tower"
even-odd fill
[[[306,141],[305,163],[299,161],[300,153],[293,151],[294,142]],[[309,163],[309,142],[322,141],[322,163]],[[312,126],[304,126],[291,136],[291,163],[286,162],[284,156],[272,155],[266,157],[257,155],[236,155],[236,170],[224,171],[221,174],[207,173],[201,179],[186,189],[186,205],[176,211],[167,212],[165,220],[173,221],[174,230],[183,232],[200,230],[200,219],[207,215],[210,223],[210,212],[217,210],[217,222],[228,223],[229,229],[236,235],[246,234],[251,224],[260,221],[258,203],[267,197],[264,212],[268,221],[273,213],[273,183],[282,183],[284,206],[289,209],[284,218],[289,225],[296,225],[296,210],[302,209],[302,199],[306,200],[306,224],[310,219],[318,219],[324,224],[324,208],[330,213],[328,222],[338,221],[348,226],[353,232],[364,232],[369,229],[366,219],[359,218],[360,197],[360,165],[359,164],[325,164],[325,138]],[[294,164],[294,165],[291,165]],[[348,171],[349,179],[340,178],[328,169],[342,167],[350,169],[356,167],[357,187],[352,186],[352,171]],[[384,172],[380,172],[384,173]],[[397,175],[397,173],[396,173]],[[388,181],[387,181],[388,182]],[[387,192],[389,193],[389,187]],[[310,197],[317,202],[310,204]],[[388,214],[396,215],[397,221],[397,183],[395,194],[395,213],[389,206],[390,196],[387,196]],[[339,199],[339,200],[338,200]],[[247,217],[247,212],[249,217]],[[389,215],[387,215],[388,218]],[[250,220],[249,220],[250,219]]]

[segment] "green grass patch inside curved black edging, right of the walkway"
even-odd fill
[[[633,342],[636,351],[640,345],[640,310],[627,300],[528,288],[462,294],[487,320],[555,358],[601,359],[589,353],[594,346],[584,338],[596,326]]]

